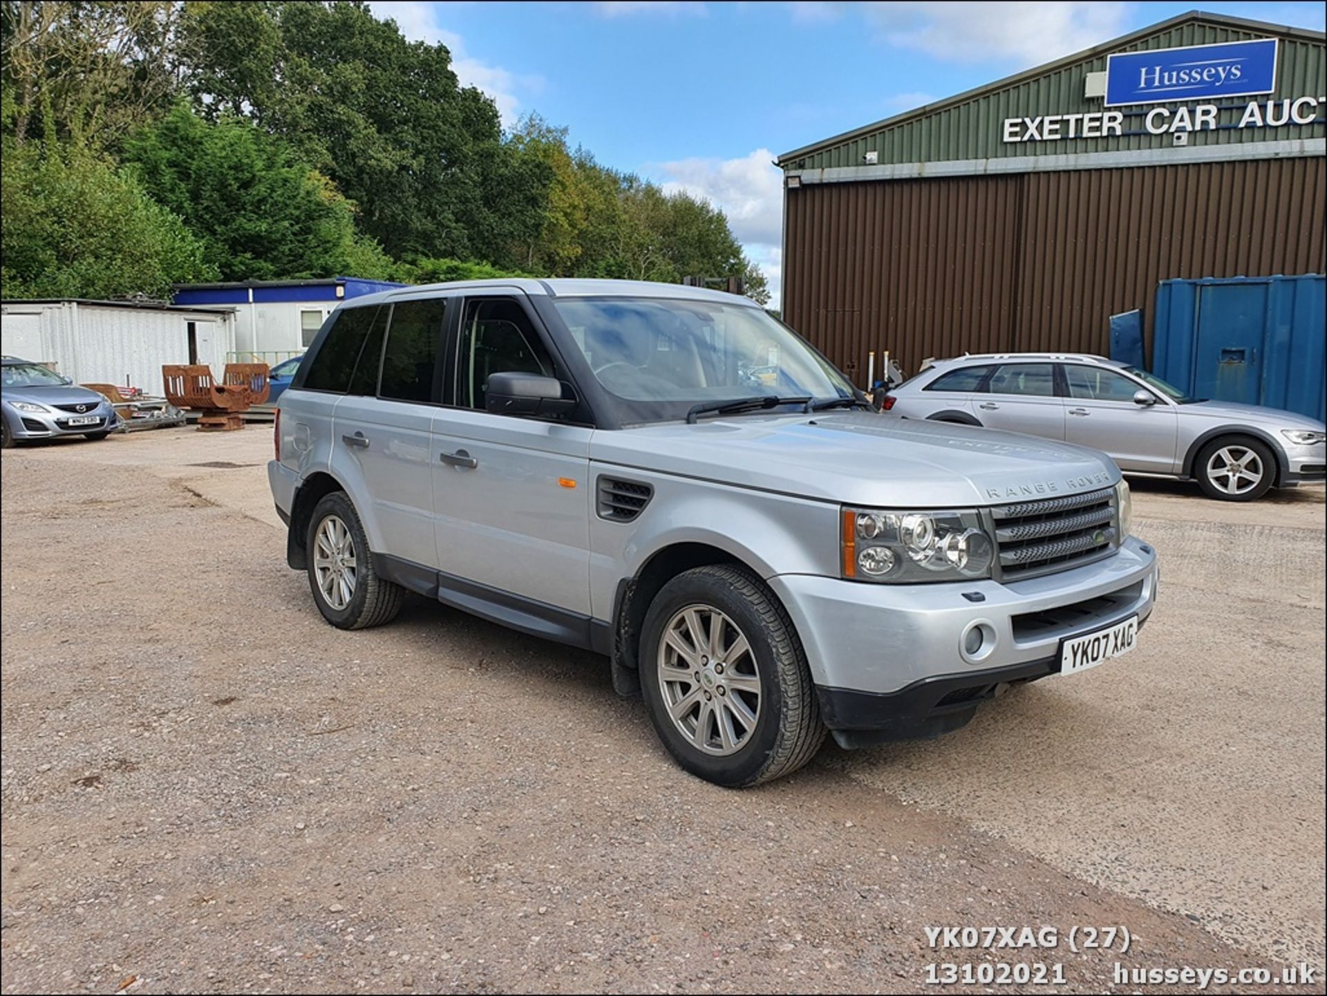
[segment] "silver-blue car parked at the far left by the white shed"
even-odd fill
[[[0,446],[57,436],[105,439],[114,428],[115,408],[97,391],[40,363],[0,359]]]

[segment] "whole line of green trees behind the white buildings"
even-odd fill
[[[524,273],[742,276],[768,300],[721,211],[601,166],[537,117],[503,134],[445,45],[406,41],[360,0],[0,0],[0,33],[7,293],[158,293],[166,271]],[[40,135],[62,151],[36,151]],[[53,220],[74,190],[97,191],[100,231]],[[161,244],[130,261],[126,224]]]

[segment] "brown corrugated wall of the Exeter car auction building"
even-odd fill
[[[784,320],[867,382],[869,350],[906,373],[963,351],[1109,351],[1108,318],[1157,282],[1322,273],[1320,158],[787,191]]]

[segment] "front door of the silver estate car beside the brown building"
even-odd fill
[[[1064,438],[1108,452],[1120,469],[1173,473],[1178,411],[1165,398],[1109,367],[1064,363]],[[1133,395],[1148,390],[1153,405]]]

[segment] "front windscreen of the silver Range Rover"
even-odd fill
[[[624,422],[683,418],[698,403],[853,398],[843,374],[763,309],[671,298],[555,298]]]

